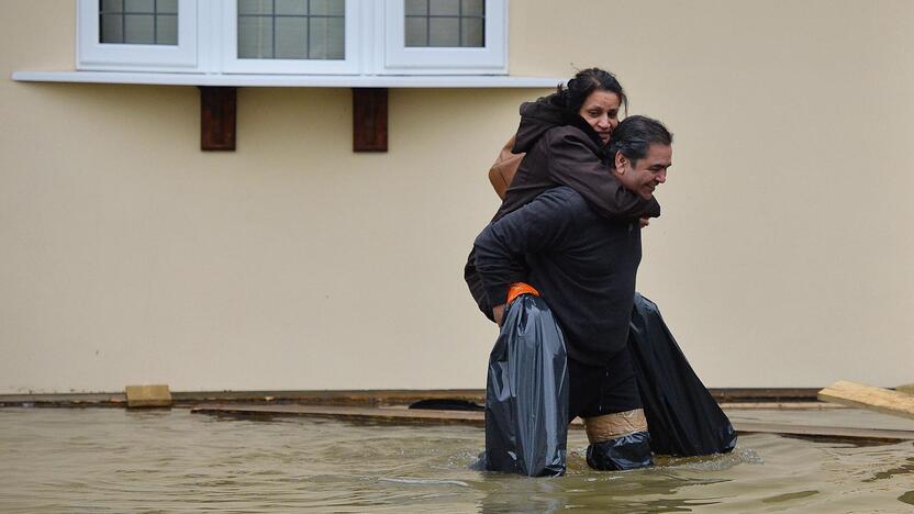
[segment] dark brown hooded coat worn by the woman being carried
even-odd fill
[[[632,221],[657,217],[660,204],[625,189],[610,171],[603,143],[597,132],[577,113],[566,114],[555,94],[521,104],[513,152],[526,153],[492,221],[530,203],[539,193],[557,186],[577,191],[602,217]],[[486,294],[471,252],[464,267],[464,279],[479,309],[490,320],[492,302]],[[523,278],[519,279],[523,281]]]

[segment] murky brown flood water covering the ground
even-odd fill
[[[732,455],[568,474],[471,469],[483,431],[187,410],[0,409],[0,512],[914,512],[914,444],[747,435]]]

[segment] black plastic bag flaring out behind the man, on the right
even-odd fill
[[[736,431],[695,375],[657,305],[635,293],[628,348],[655,454],[725,454]]]

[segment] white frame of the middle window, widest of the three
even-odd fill
[[[224,0],[222,27],[225,31],[222,72],[357,75],[361,71],[361,14],[366,1],[346,0],[345,58],[343,59],[242,59],[238,58],[238,2]]]

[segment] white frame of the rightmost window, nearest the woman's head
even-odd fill
[[[382,72],[416,75],[508,74],[508,1],[486,0],[484,47],[409,47],[405,2],[384,0]]]

